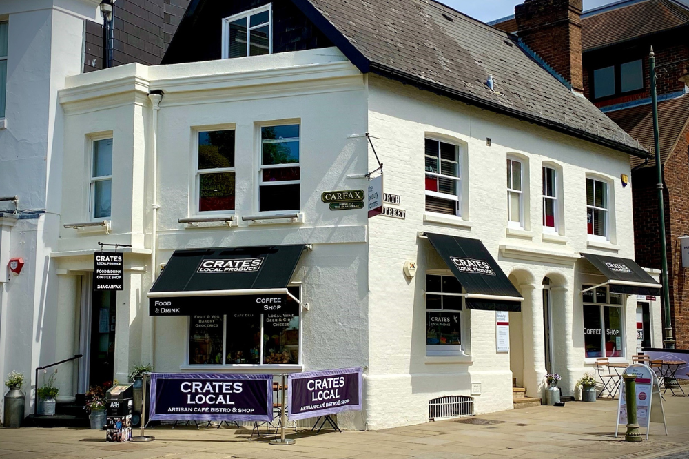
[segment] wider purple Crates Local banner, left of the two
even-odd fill
[[[150,420],[273,420],[273,375],[153,373]]]

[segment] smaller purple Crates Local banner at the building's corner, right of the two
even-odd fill
[[[361,411],[362,368],[310,371],[287,376],[289,420]]]

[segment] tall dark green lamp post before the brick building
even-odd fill
[[[663,196],[663,165],[660,163],[660,130],[658,127],[658,95],[656,89],[655,53],[650,48],[648,59],[650,63],[650,98],[653,106],[653,139],[655,141],[655,170],[658,176],[658,218],[660,223],[660,256],[663,273],[663,306],[665,311],[665,339],[666,349],[675,349],[675,338],[672,337],[672,318],[670,317],[670,285],[668,284],[668,245],[665,236],[665,199]]]

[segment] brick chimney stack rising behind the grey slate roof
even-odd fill
[[[583,93],[582,0],[525,0],[515,19],[522,41]]]

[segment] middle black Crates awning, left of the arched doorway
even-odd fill
[[[464,288],[466,307],[486,311],[522,310],[522,295],[477,239],[426,233]]]

